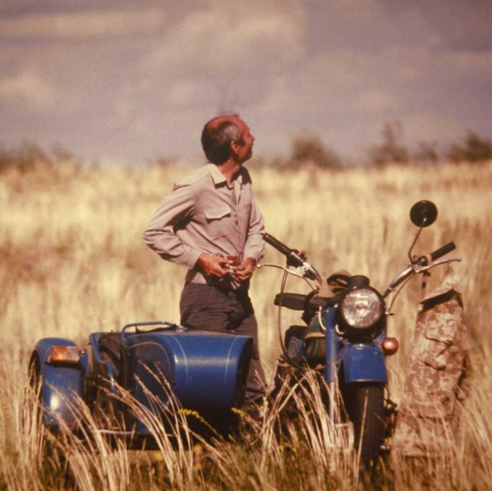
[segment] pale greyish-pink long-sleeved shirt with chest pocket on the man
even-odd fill
[[[241,167],[233,186],[213,163],[175,183],[144,231],[143,239],[163,259],[186,266],[186,281],[248,288],[227,275],[205,278],[196,262],[202,252],[252,257],[264,254],[264,220],[253,200],[251,178]]]

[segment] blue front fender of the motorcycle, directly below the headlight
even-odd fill
[[[340,350],[345,383],[387,383],[386,362],[381,348],[376,344],[345,344]]]

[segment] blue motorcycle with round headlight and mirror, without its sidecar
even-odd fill
[[[352,424],[354,445],[365,467],[370,467],[382,451],[388,451],[383,443],[391,436],[396,416],[396,405],[385,397],[386,357],[399,349],[398,340],[386,336],[386,321],[393,315],[394,300],[415,275],[426,275],[440,264],[460,260],[439,260],[455,249],[453,242],[429,255],[412,255],[423,228],[436,220],[437,208],[430,201],[419,201],[412,207],[410,217],[419,227],[408,251],[410,264],[383,293],[362,275],[335,274],[324,283],[304,252],[286,246],[270,234],[264,236],[265,242],[286,257],[286,266],[259,265],[284,271],[282,289],[274,303],[279,309],[302,311],[305,323],[290,326],[285,332],[276,386],[284,383],[286,376],[298,382],[306,370],[319,374],[326,387],[325,405],[330,420],[341,431],[346,429],[346,422]],[[308,281],[311,293],[284,292],[288,274]]]

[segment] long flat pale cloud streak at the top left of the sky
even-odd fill
[[[9,38],[91,39],[149,33],[162,26],[160,9],[94,10],[28,14],[0,19],[0,33]]]

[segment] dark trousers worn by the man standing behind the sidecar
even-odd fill
[[[226,290],[213,285],[186,283],[179,301],[181,325],[232,331],[251,336],[253,357],[248,372],[246,402],[265,393],[265,374],[258,356],[258,324],[248,292]]]

